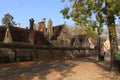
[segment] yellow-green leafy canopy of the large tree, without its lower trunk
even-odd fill
[[[70,3],[60,11],[64,18],[72,18],[78,24],[86,24],[93,14],[99,25],[107,23],[108,14],[120,15],[120,0],[62,0],[62,2]]]

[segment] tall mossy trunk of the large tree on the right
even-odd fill
[[[111,51],[111,70],[115,67],[115,54],[118,51],[117,46],[117,34],[115,29],[115,20],[114,16],[107,14],[107,21],[108,21],[108,30],[109,30],[109,40],[110,40],[110,51]]]

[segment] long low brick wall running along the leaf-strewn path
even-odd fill
[[[96,50],[97,51],[97,50]],[[30,60],[44,59],[73,59],[79,56],[93,56],[95,50],[38,50],[38,49],[0,49],[0,57],[8,57],[10,61],[17,61],[19,58]]]

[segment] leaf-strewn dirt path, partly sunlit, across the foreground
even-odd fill
[[[120,80],[109,72],[109,62],[95,58],[0,65],[0,80]]]

